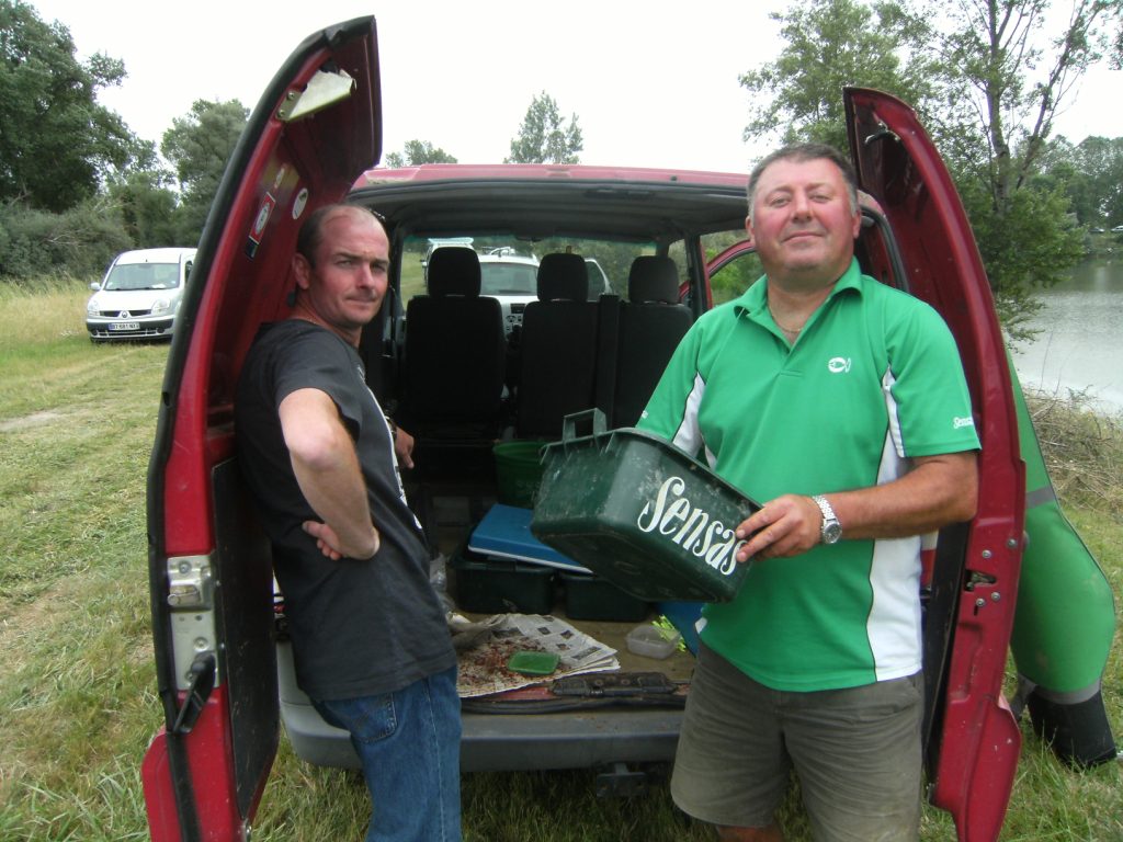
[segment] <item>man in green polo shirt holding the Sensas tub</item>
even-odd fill
[[[916,839],[921,537],[977,495],[962,366],[934,310],[859,271],[837,150],[774,153],[748,196],[765,276],[697,320],[639,423],[767,501],[738,597],[703,612],[672,794],[774,842],[794,768],[818,840]]]

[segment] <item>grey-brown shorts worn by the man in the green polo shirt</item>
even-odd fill
[[[818,842],[915,840],[923,675],[785,693],[700,647],[670,793],[712,824],[764,827],[795,769]]]

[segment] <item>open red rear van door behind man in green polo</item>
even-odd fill
[[[889,222],[907,291],[956,337],[983,442],[978,513],[967,528],[942,531],[935,552],[925,614],[926,763],[931,800],[952,814],[959,839],[993,842],[1021,747],[1002,696],[1025,509],[1005,346],[959,195],[915,113],[878,91],[848,89],[844,98],[858,182]]]

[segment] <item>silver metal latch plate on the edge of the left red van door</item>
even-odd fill
[[[221,684],[214,625],[217,587],[210,556],[179,556],[167,559],[167,606],[171,608],[175,685],[176,689],[189,695],[184,704],[191,704],[190,697],[209,684],[203,694],[206,701],[211,688]],[[210,666],[203,667],[202,663],[208,658]]]

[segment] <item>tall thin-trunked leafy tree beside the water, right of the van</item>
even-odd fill
[[[1034,290],[1066,277],[1083,256],[1062,191],[1035,176],[1058,110],[1104,58],[1123,4],[1071,0],[1060,35],[1044,39],[1042,31],[1056,31],[1049,0],[957,0],[948,12],[942,100],[960,104],[960,119],[947,128],[975,141],[957,150],[957,181],[1007,333],[1028,339],[1020,326],[1038,308]]]

